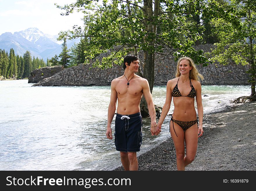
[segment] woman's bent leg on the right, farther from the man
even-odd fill
[[[184,157],[184,166],[192,163],[195,158],[198,144],[198,126],[197,123],[185,131],[186,156]]]

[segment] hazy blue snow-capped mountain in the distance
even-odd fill
[[[14,49],[15,54],[23,56],[26,51],[30,51],[31,56],[51,59],[55,54],[59,55],[62,51],[62,42],[57,40],[58,35],[44,34],[38,28],[28,28],[24,31],[12,33],[3,33],[0,35],[0,49],[10,51]],[[67,40],[67,48],[72,47],[74,42],[80,42],[80,39]]]

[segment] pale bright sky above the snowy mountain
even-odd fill
[[[54,5],[74,2],[76,0],[0,0],[0,35],[31,27],[45,34],[58,35],[60,31],[72,30],[74,25],[82,26],[81,12],[61,16],[63,10]]]

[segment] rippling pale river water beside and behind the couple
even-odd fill
[[[0,170],[111,170],[119,165],[114,140],[106,139],[110,86],[31,87],[28,80],[0,81]],[[204,113],[250,95],[250,86],[202,86]],[[163,106],[166,86],[153,88]],[[172,113],[173,103],[169,113]],[[114,117],[115,119],[115,117]],[[159,136],[143,119],[141,154],[170,137],[168,116]],[[114,134],[114,120],[112,123]]]

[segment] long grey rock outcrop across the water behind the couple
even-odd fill
[[[203,49],[205,52],[214,48],[213,44],[199,45],[196,49]],[[110,54],[110,51],[100,54],[97,59],[101,60]],[[144,62],[143,52],[139,52],[140,62]],[[202,85],[249,85],[249,74],[246,71],[249,66],[236,65],[229,63],[228,65],[218,65],[217,63],[209,64],[203,67],[202,64],[197,65],[200,74],[204,76],[201,81]],[[177,62],[171,55],[155,56],[154,68],[154,85],[166,85],[167,81],[175,78]],[[141,66],[143,72],[143,66]],[[101,70],[92,67],[91,64],[74,66],[59,72],[58,74],[45,78],[34,86],[87,86],[110,85],[114,78],[122,76],[124,69],[122,65],[113,65],[112,68]]]

